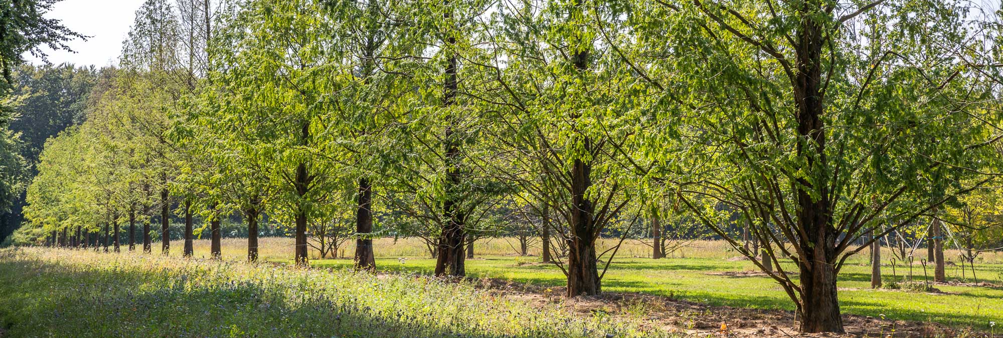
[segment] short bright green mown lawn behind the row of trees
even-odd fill
[[[553,264],[525,264],[535,257],[489,256],[466,261],[467,275],[500,278],[540,286],[563,286],[565,276]],[[518,261],[524,262],[519,265]],[[350,259],[314,260],[313,266],[347,268]],[[383,271],[431,273],[435,261],[410,258],[379,258],[377,267]],[[785,265],[784,269],[792,270]],[[711,305],[793,310],[793,303],[776,282],[768,277],[729,277],[709,275],[714,272],[747,271],[755,267],[748,261],[719,258],[618,259],[603,278],[603,290],[642,292],[671,296]],[[989,323],[1003,325],[1003,289],[938,285],[947,294],[927,294],[898,290],[872,290],[871,267],[860,264],[847,266],[840,274],[840,304],[845,313],[895,320],[933,321],[956,326],[990,329]],[[892,276],[891,267],[884,267]],[[898,267],[899,280],[903,270]],[[955,270],[949,269],[949,277]],[[922,267],[917,264],[914,278],[923,280]],[[933,271],[930,271],[933,274]],[[960,273],[959,273],[960,274]],[[977,266],[977,274],[993,282],[1003,275],[1003,264]],[[968,274],[970,276],[970,273]]]

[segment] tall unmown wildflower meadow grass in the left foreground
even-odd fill
[[[667,336],[415,275],[158,255],[0,250],[0,320],[23,336]]]

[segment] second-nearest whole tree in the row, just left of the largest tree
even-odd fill
[[[568,277],[569,296],[602,290],[595,243],[629,205],[618,172],[633,170],[621,162],[630,135],[646,126],[631,119],[636,93],[622,82],[630,70],[596,39],[602,28],[622,28],[623,13],[585,0],[506,3],[485,33],[487,56],[467,57],[490,82],[464,94],[496,119],[485,134],[500,149],[479,164],[518,186],[521,204],[557,215],[543,221],[567,245],[567,261],[552,261]]]

